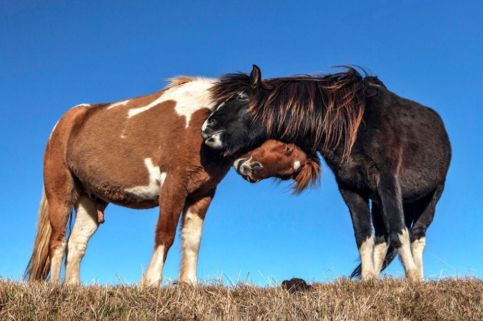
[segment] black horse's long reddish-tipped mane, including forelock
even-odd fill
[[[350,154],[362,120],[366,89],[370,82],[384,86],[377,77],[365,78],[350,66],[345,72],[300,75],[262,81],[250,99],[249,110],[260,119],[270,137],[307,142],[311,153],[333,152],[343,145],[342,158]],[[213,87],[218,102],[229,99],[250,85],[247,74],[227,74]]]

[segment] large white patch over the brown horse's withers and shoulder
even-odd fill
[[[213,80],[197,78],[195,81],[168,88],[155,101],[146,106],[129,110],[128,118],[145,112],[160,103],[173,100],[176,102],[176,106],[174,107],[176,113],[179,116],[185,116],[185,127],[188,128],[194,112],[202,108],[213,108],[212,99],[208,91],[212,86]]]

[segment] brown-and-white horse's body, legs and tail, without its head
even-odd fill
[[[80,282],[89,238],[108,203],[160,206],[153,257],[141,279],[160,284],[182,217],[180,281],[196,283],[203,220],[234,158],[208,148],[200,128],[213,111],[216,80],[178,77],[164,90],[114,103],[81,104],[57,122],[44,155],[44,193],[25,277]],[[75,223],[66,241],[72,207]]]

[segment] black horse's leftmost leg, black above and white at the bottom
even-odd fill
[[[363,280],[376,278],[374,274],[374,234],[371,226],[369,200],[339,186],[339,191],[349,207],[355,241],[359,249],[360,275]]]

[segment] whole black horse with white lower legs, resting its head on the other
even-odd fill
[[[294,143],[309,155],[320,152],[349,207],[362,278],[377,278],[396,251],[410,280],[423,277],[426,230],[451,158],[434,110],[351,67],[262,81],[254,65],[250,76],[225,75],[212,91],[217,110],[202,130],[208,146],[230,155],[268,137]]]

